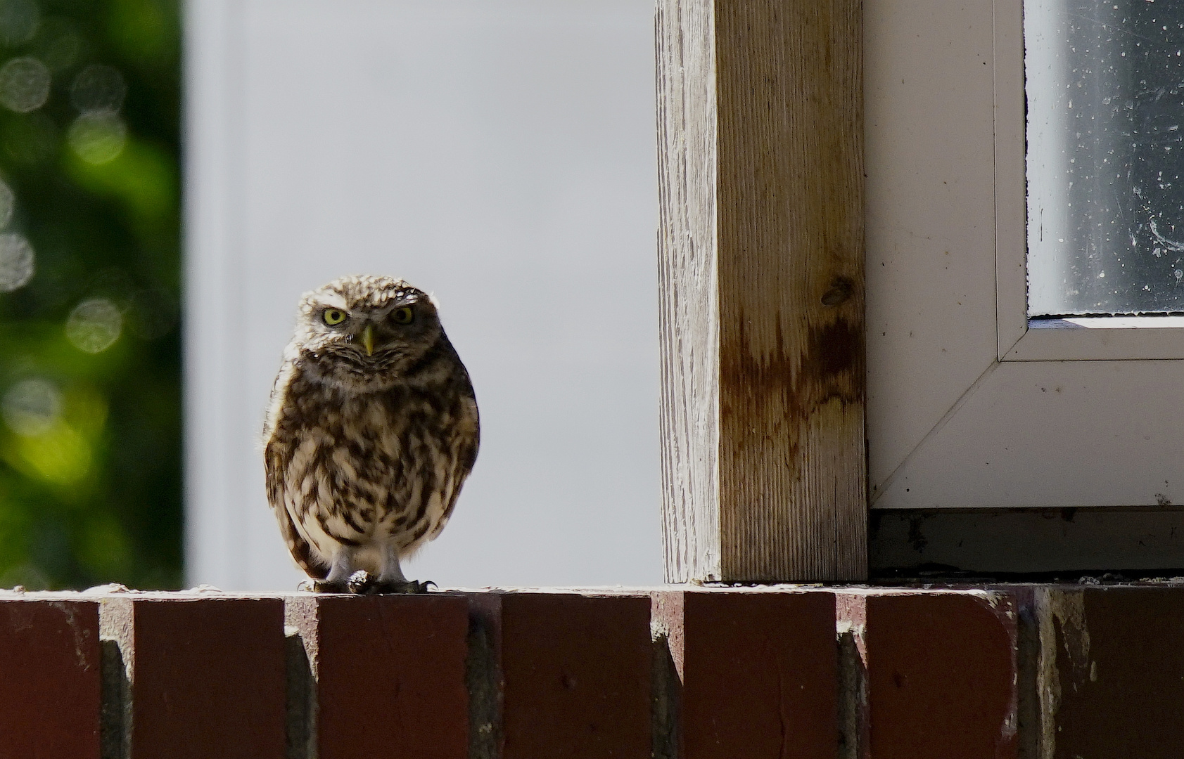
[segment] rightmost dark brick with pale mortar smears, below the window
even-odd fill
[[[1044,654],[1060,693],[1045,732],[1073,759],[1184,754],[1184,588],[1047,591]],[[1047,705],[1048,706],[1048,705]]]

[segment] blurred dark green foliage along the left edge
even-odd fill
[[[175,1],[0,0],[0,588],[181,582],[180,86]]]

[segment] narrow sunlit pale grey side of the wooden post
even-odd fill
[[[671,582],[721,571],[713,48],[709,1],[658,1],[662,534]]]

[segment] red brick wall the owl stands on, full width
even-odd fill
[[[1184,585],[0,592],[0,759],[1184,755]]]

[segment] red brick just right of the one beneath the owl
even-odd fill
[[[648,596],[501,596],[503,759],[649,759]]]

